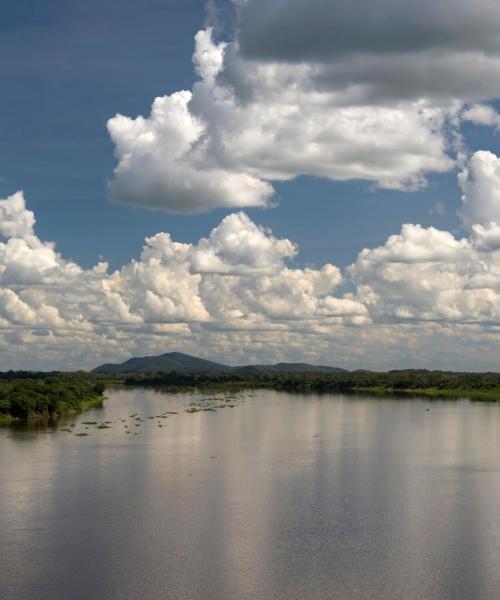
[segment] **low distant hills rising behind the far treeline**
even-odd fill
[[[245,365],[230,367],[222,363],[197,358],[182,352],[167,352],[160,356],[129,358],[123,363],[107,363],[94,369],[94,373],[337,373],[339,367],[309,365],[307,363],[278,363],[276,365]]]

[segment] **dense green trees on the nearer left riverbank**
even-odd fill
[[[100,406],[105,385],[86,373],[0,373],[0,424]]]

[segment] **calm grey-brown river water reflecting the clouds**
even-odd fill
[[[2,600],[498,597],[500,405],[109,395],[0,429]]]

